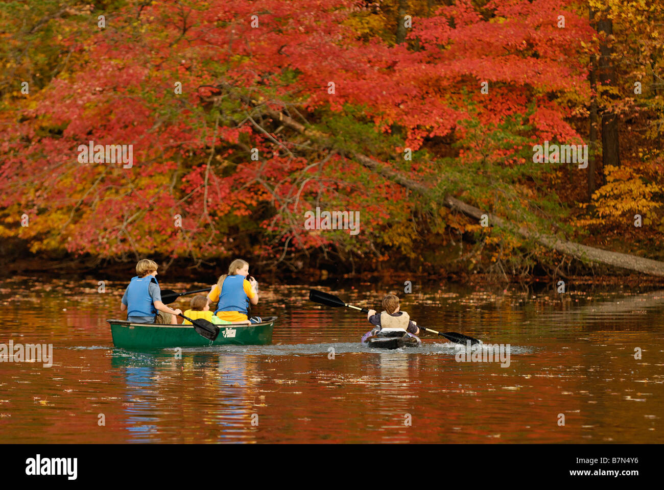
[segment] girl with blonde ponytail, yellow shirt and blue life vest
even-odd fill
[[[248,274],[248,262],[235,259],[228,266],[228,274],[219,276],[217,283],[210,289],[208,301],[219,319],[232,323],[260,322],[258,317],[247,317],[249,303],[258,304],[258,282],[254,278],[246,280]]]

